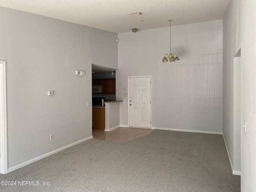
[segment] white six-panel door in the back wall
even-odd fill
[[[151,128],[151,77],[129,78],[130,127]]]

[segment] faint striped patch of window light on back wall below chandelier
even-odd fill
[[[174,106],[222,106],[222,51],[194,54],[190,60],[158,70],[158,97],[160,104],[166,96]]]

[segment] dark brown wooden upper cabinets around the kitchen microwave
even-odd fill
[[[102,85],[103,94],[116,94],[116,79],[93,79],[92,85]]]

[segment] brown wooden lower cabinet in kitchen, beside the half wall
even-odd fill
[[[94,129],[105,129],[105,108],[92,107],[92,127]]]

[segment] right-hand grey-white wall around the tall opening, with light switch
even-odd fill
[[[241,191],[256,192],[256,1],[231,0],[223,19],[223,132],[231,153],[234,56],[241,48]]]

